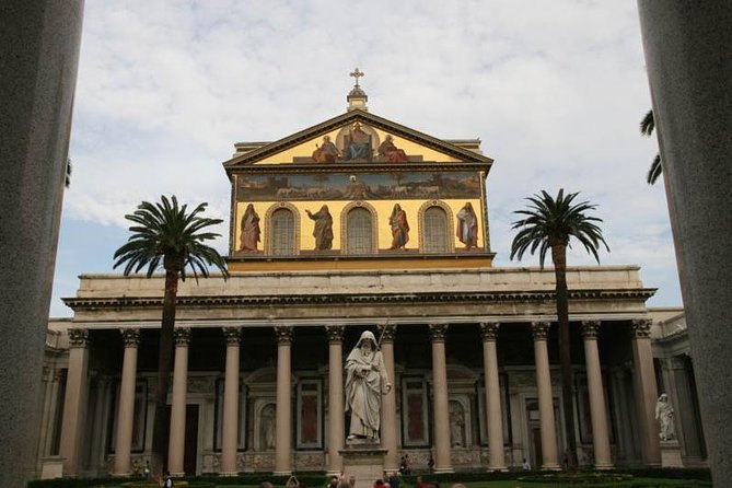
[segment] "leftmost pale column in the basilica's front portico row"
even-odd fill
[[[68,334],[69,371],[66,379],[59,455],[65,457],[63,476],[75,476],[80,467],[79,453],[89,396],[89,330],[70,328]]]

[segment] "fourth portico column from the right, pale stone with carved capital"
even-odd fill
[[[498,381],[496,340],[499,323],[480,324],[483,336],[483,367],[486,376],[486,409],[488,420],[488,469],[506,470],[503,454],[503,419],[501,414],[501,390]]]

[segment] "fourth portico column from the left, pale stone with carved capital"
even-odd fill
[[[239,348],[242,329],[224,327],[226,339],[226,372],[223,385],[223,429],[221,439],[220,476],[236,476],[236,446],[239,443]]]

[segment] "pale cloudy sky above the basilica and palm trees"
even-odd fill
[[[359,67],[369,111],[430,136],[479,138],[495,160],[488,216],[497,267],[515,210],[541,190],[580,191],[611,252],[639,265],[649,306],[682,306],[636,3],[591,0],[85,3],[51,316],[79,275],[112,272],[125,214],[176,195],[222,218],[234,142],[275,141],[340,115]],[[594,260],[580,246],[570,265]]]

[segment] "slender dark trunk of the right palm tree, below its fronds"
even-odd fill
[[[559,364],[561,369],[561,402],[567,439],[567,468],[577,470],[577,439],[574,437],[574,402],[572,397],[572,351],[569,334],[569,297],[567,293],[567,246],[551,246],[551,260],[557,282],[557,319],[559,321]]]

